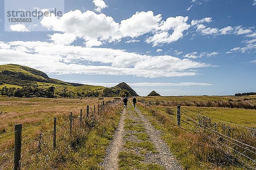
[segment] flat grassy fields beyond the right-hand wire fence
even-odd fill
[[[154,96],[154,97],[140,97],[138,99],[145,99],[145,101],[229,101],[229,100],[241,100],[250,101],[256,103],[256,96]],[[250,100],[249,100],[250,99]],[[176,113],[176,107],[157,106],[162,111],[166,108],[172,109]],[[196,117],[197,114],[208,116],[221,121],[235,123],[247,127],[256,127],[256,109],[243,109],[243,108],[222,108],[222,107],[189,107],[181,106],[181,112],[190,116]],[[212,120],[213,122],[220,122],[218,120]]]

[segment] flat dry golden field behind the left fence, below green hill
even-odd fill
[[[113,98],[105,98],[105,101]],[[47,99],[47,98],[16,98],[0,97],[0,130],[12,132],[14,125],[23,123],[23,127],[44,122],[49,118],[70,112],[79,114],[85,112],[86,105],[97,105],[102,102],[98,98],[83,99]]]

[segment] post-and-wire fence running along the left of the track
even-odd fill
[[[90,121],[96,121],[95,119],[97,119],[97,115],[104,115],[105,112],[107,112],[108,109],[113,107],[116,103],[118,105],[117,99],[110,101],[102,101],[102,103],[100,104],[98,102],[98,107],[96,107],[96,105],[94,105],[94,107],[89,107],[87,105],[86,113],[80,112],[80,114],[70,114],[72,115],[71,119],[67,115],[61,115],[57,117],[58,123],[57,125],[55,125],[55,127],[58,130],[58,133],[55,137],[53,133],[53,119],[47,119],[47,121],[23,127],[21,129],[23,140],[21,141],[21,138],[18,139],[20,140],[20,145],[16,145],[16,142],[14,142],[14,144],[10,145],[9,149],[0,151],[0,170],[16,170],[15,162],[19,162],[17,170],[27,169],[30,167],[30,164],[34,163],[34,159],[38,159],[38,156],[50,156],[51,153],[61,152],[61,150],[70,148],[70,143],[67,143],[67,141],[72,140],[73,132],[76,133],[76,131],[79,131],[80,133],[81,131],[81,133],[87,133],[85,132],[85,130],[81,129],[88,129],[88,123],[90,124]],[[80,116],[82,117],[80,118]],[[32,127],[37,128],[35,129]],[[72,133],[71,129],[73,130]],[[0,136],[0,147],[9,145],[4,142],[5,139],[12,138],[13,141],[17,140],[16,134],[19,132],[21,133],[21,130],[15,130],[11,133],[6,133]],[[55,140],[53,138],[55,138]],[[56,149],[53,147],[54,142],[57,143]],[[21,148],[21,150],[19,150],[19,147]],[[20,154],[20,159],[18,161],[15,160],[15,154],[17,153]],[[41,169],[44,168],[42,167]]]

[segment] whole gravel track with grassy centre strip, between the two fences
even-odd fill
[[[129,157],[130,154],[140,159],[133,160],[131,164],[129,161],[133,157]],[[105,170],[117,170],[118,167],[182,170],[174,160],[168,145],[161,139],[161,132],[151,125],[138,108],[134,109],[131,102],[122,112],[118,129],[107,148],[103,167]]]

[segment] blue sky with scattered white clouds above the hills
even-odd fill
[[[0,64],[143,96],[256,91],[256,0],[30,1],[0,1]],[[64,14],[8,22],[32,7]]]

